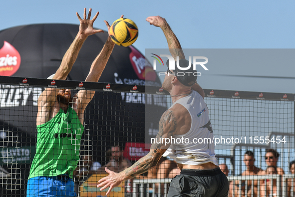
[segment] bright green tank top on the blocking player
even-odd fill
[[[84,131],[76,112],[68,107],[67,113],[59,109],[48,122],[37,125],[36,154],[28,178],[57,176],[73,170],[80,159],[80,139]]]

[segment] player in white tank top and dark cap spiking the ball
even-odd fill
[[[174,59],[177,59],[176,56],[179,57],[181,67],[187,67],[188,61],[185,60],[181,45],[166,20],[160,16],[150,16],[146,20],[150,24],[161,27],[166,36],[171,55]],[[150,152],[131,167],[119,173],[106,168],[105,170],[109,175],[100,179],[100,183],[97,185],[97,187],[102,187],[100,190],[110,187],[106,194],[122,181],[155,167],[167,150],[165,155],[175,158],[181,169],[181,174],[171,180],[168,191],[169,197],[228,195],[229,182],[218,166],[214,153],[214,143],[197,144],[192,141],[195,137],[213,139],[213,129],[209,120],[208,108],[203,99],[204,91],[196,83],[196,76],[193,74],[177,76],[175,74],[177,71],[179,70],[168,69],[166,72],[162,87],[169,91],[173,105],[161,116],[159,132],[151,145]],[[202,96],[194,90],[202,94]],[[189,137],[189,144],[180,144],[177,141],[166,143],[167,140],[160,142],[163,138],[178,138],[181,136]]]

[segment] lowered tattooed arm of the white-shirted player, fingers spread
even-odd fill
[[[107,168],[106,172],[109,173],[108,176],[99,180],[100,184],[97,187],[101,187],[100,190],[103,190],[107,187],[110,187],[106,194],[118,186],[122,181],[133,178],[139,174],[142,174],[148,171],[149,168],[155,167],[160,160],[163,153],[168,149],[170,143],[165,143],[165,138],[174,137],[177,129],[175,111],[168,109],[163,113],[159,122],[159,133],[157,134],[155,141],[151,145],[150,152],[144,157],[140,158],[136,163],[127,169],[115,173]],[[164,140],[162,140],[164,138]],[[157,143],[161,142],[161,143]],[[163,142],[163,143],[162,143]],[[170,141],[169,141],[170,142]]]

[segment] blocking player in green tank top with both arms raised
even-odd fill
[[[84,19],[76,12],[80,21],[79,32],[63,56],[59,68],[50,76],[52,79],[66,79],[87,36],[103,32],[93,28],[98,13],[90,20],[91,8],[87,18],[84,8]],[[104,22],[109,29],[109,23]],[[113,47],[114,42],[109,36],[91,64],[85,81],[98,81]],[[84,110],[94,93],[91,90],[79,90],[71,96],[70,89],[45,88],[39,96],[37,148],[30,168],[27,196],[76,196],[72,173],[79,161]]]

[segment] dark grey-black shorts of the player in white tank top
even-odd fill
[[[172,196],[228,196],[229,181],[220,168],[210,170],[183,169],[170,183]]]

